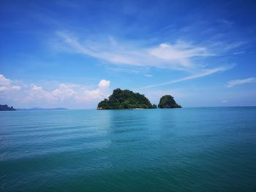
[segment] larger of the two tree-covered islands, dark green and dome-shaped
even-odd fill
[[[108,99],[100,101],[97,110],[155,109],[146,96],[129,90],[116,88]]]

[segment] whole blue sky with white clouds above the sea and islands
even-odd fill
[[[256,105],[256,1],[1,1],[0,104]]]

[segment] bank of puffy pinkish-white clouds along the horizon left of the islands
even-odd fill
[[[12,105],[24,104],[25,107],[96,107],[98,101],[110,95],[110,80],[100,80],[95,85],[75,85],[59,83],[56,88],[46,85],[26,84],[12,85],[15,80],[8,80],[0,76],[1,102]],[[5,85],[5,86],[4,86]]]

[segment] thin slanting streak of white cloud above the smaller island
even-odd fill
[[[176,83],[176,82],[192,80],[192,79],[195,79],[195,78],[204,77],[204,76],[214,74],[214,73],[217,73],[217,72],[223,72],[223,71],[226,71],[226,70],[228,70],[232,67],[233,66],[223,66],[223,67],[219,67],[219,68],[215,68],[215,69],[205,69],[205,70],[202,70],[202,71],[197,72],[195,74],[179,78],[177,80],[170,80],[168,82],[162,82],[162,83],[159,83],[159,84],[148,85],[148,86],[145,86],[145,87],[139,88],[139,89],[155,88],[155,87],[159,87],[159,86],[163,86],[163,85],[170,85],[170,84],[173,84],[173,83]]]

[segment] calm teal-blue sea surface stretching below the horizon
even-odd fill
[[[0,112],[0,191],[256,191],[256,107]]]

